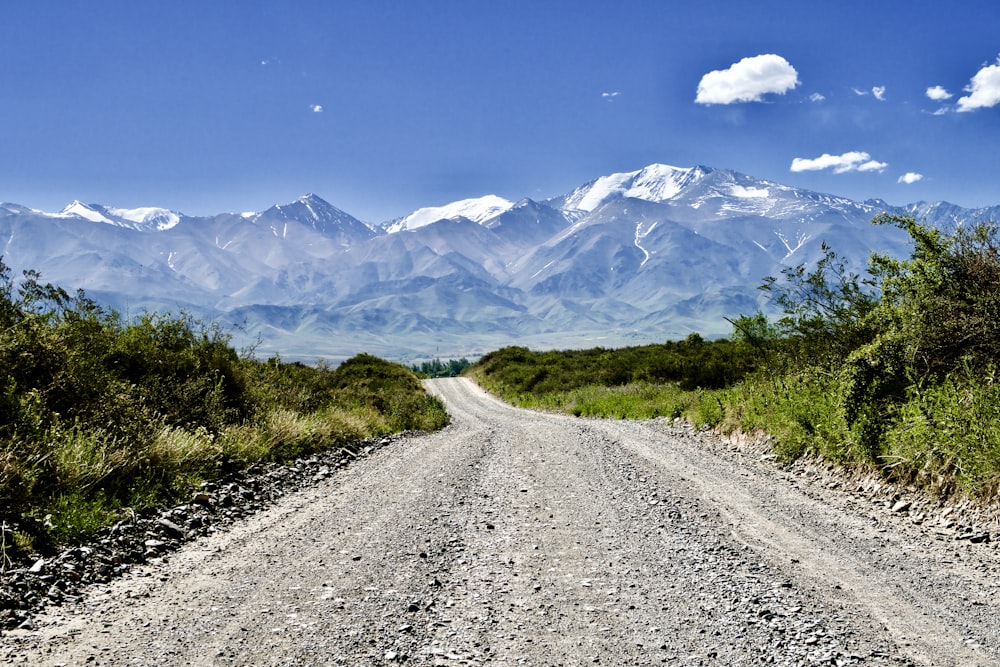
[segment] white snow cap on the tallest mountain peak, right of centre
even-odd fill
[[[602,176],[566,196],[566,210],[593,211],[609,199],[632,197],[662,202],[677,195],[684,186],[706,174],[702,167],[671,167],[651,164],[638,171]]]

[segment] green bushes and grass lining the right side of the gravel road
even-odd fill
[[[1000,241],[883,215],[911,257],[874,255],[864,275],[826,249],[767,278],[784,316],[734,320],[732,340],[691,336],[622,350],[505,348],[470,370],[514,403],[576,415],[685,416],[769,433],[785,460],[877,469],[947,495],[1000,489]]]

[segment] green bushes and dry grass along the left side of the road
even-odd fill
[[[79,539],[202,480],[447,423],[408,369],[241,358],[218,327],[123,321],[82,292],[0,262],[4,557]],[[12,544],[8,544],[8,538]]]

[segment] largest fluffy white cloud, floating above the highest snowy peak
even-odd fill
[[[768,93],[784,95],[799,85],[799,74],[787,60],[773,53],[744,58],[729,69],[701,77],[698,104],[760,102]]]

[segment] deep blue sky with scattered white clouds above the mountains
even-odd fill
[[[1000,204],[1000,2],[0,5],[0,201],[369,222],[662,162]]]

